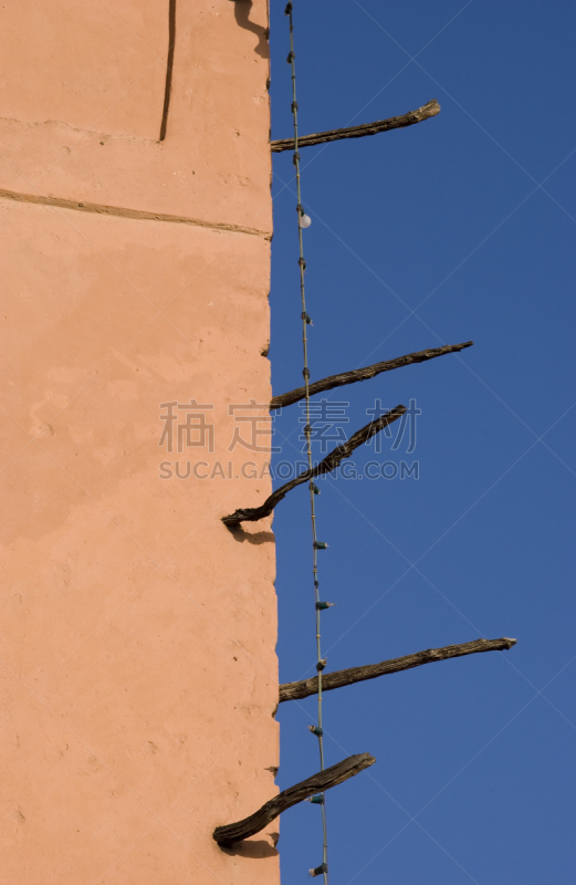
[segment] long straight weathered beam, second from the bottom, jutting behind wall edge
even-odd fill
[[[450,657],[475,655],[479,652],[505,652],[515,644],[515,639],[509,639],[505,636],[502,639],[474,639],[474,642],[461,645],[444,645],[443,648],[427,648],[426,652],[395,657],[390,660],[383,660],[380,664],[368,664],[366,667],[350,667],[347,670],[323,673],[322,690],[331,691],[333,688],[363,683],[365,679],[376,679],[378,676],[386,676],[389,673],[409,670],[412,667],[420,667],[422,664],[433,664],[434,660],[448,660]],[[317,694],[317,676],[303,679],[301,683],[285,683],[280,686],[280,704],[284,700],[301,700]]]

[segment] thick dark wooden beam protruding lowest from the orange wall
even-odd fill
[[[324,793],[326,790],[337,787],[338,783],[347,781],[348,778],[354,778],[355,774],[359,774],[360,771],[374,766],[375,762],[376,759],[369,753],[349,756],[342,762],[337,762],[335,766],[324,769],[324,771],[318,771],[311,778],[306,778],[305,781],[283,790],[249,818],[244,818],[238,823],[217,826],[212,833],[212,839],[222,847],[229,847],[234,842],[241,842],[243,839],[253,836],[254,833],[260,833],[264,826],[268,826],[279,814],[291,809],[292,805],[303,802],[314,793]]]

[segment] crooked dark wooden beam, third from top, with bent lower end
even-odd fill
[[[300,473],[294,479],[291,479],[290,482],[285,482],[283,486],[281,486],[280,489],[273,491],[270,498],[266,498],[261,507],[240,508],[239,510],[234,510],[233,513],[230,513],[230,516],[222,517],[222,522],[232,528],[233,525],[240,525],[241,522],[256,522],[259,519],[269,517],[275,506],[286,497],[289,491],[292,491],[292,489],[295,489],[296,486],[301,486],[303,482],[314,479],[314,477],[320,477],[324,473],[329,473],[332,470],[335,470],[341,461],[344,460],[344,458],[350,457],[354,449],[357,449],[363,442],[366,442],[368,439],[370,439],[370,437],[378,434],[388,424],[391,424],[400,418],[405,412],[406,406],[396,406],[395,408],[390,409],[390,412],[387,412],[386,415],[383,415],[377,420],[367,424],[359,430],[356,430],[356,433],[350,436],[346,442],[343,442],[342,446],[337,446],[335,449],[328,452],[324,460],[317,464],[316,467],[313,467],[312,470],[304,470],[303,473]]]

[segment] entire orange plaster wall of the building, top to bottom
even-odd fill
[[[0,10],[2,885],[279,882],[277,821],[211,839],[279,764],[270,520],[220,521],[270,492],[270,437],[231,447],[271,396],[268,12],[237,6],[177,0],[163,143],[168,0]],[[190,399],[213,451],[159,445]]]

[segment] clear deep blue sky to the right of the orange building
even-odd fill
[[[273,138],[292,134],[283,11],[272,3]],[[302,133],[442,106],[302,150],[312,378],[474,341],[327,395],[349,399],[346,434],[376,398],[422,412],[411,455],[405,438],[356,458],[417,459],[418,480],[318,482],[328,669],[517,638],[326,695],[327,764],[378,760],[327,794],[331,885],[572,883],[576,8],[295,0],[295,29]],[[273,196],[279,394],[302,384],[289,154]],[[277,460],[302,457],[301,414],[277,420]],[[314,673],[308,519],[305,489],[274,519],[282,681]],[[318,768],[315,700],[277,718],[284,788]],[[292,809],[281,830],[283,883],[304,882],[322,861],[320,809]]]

